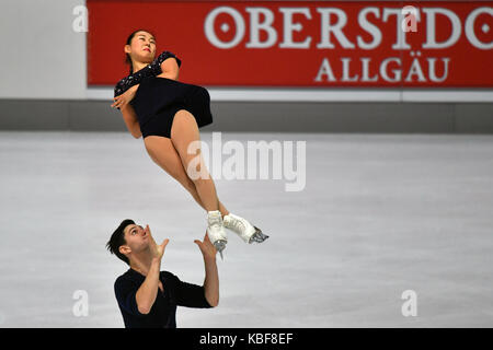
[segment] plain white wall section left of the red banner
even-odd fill
[[[85,98],[84,0],[1,0],[0,98]]]

